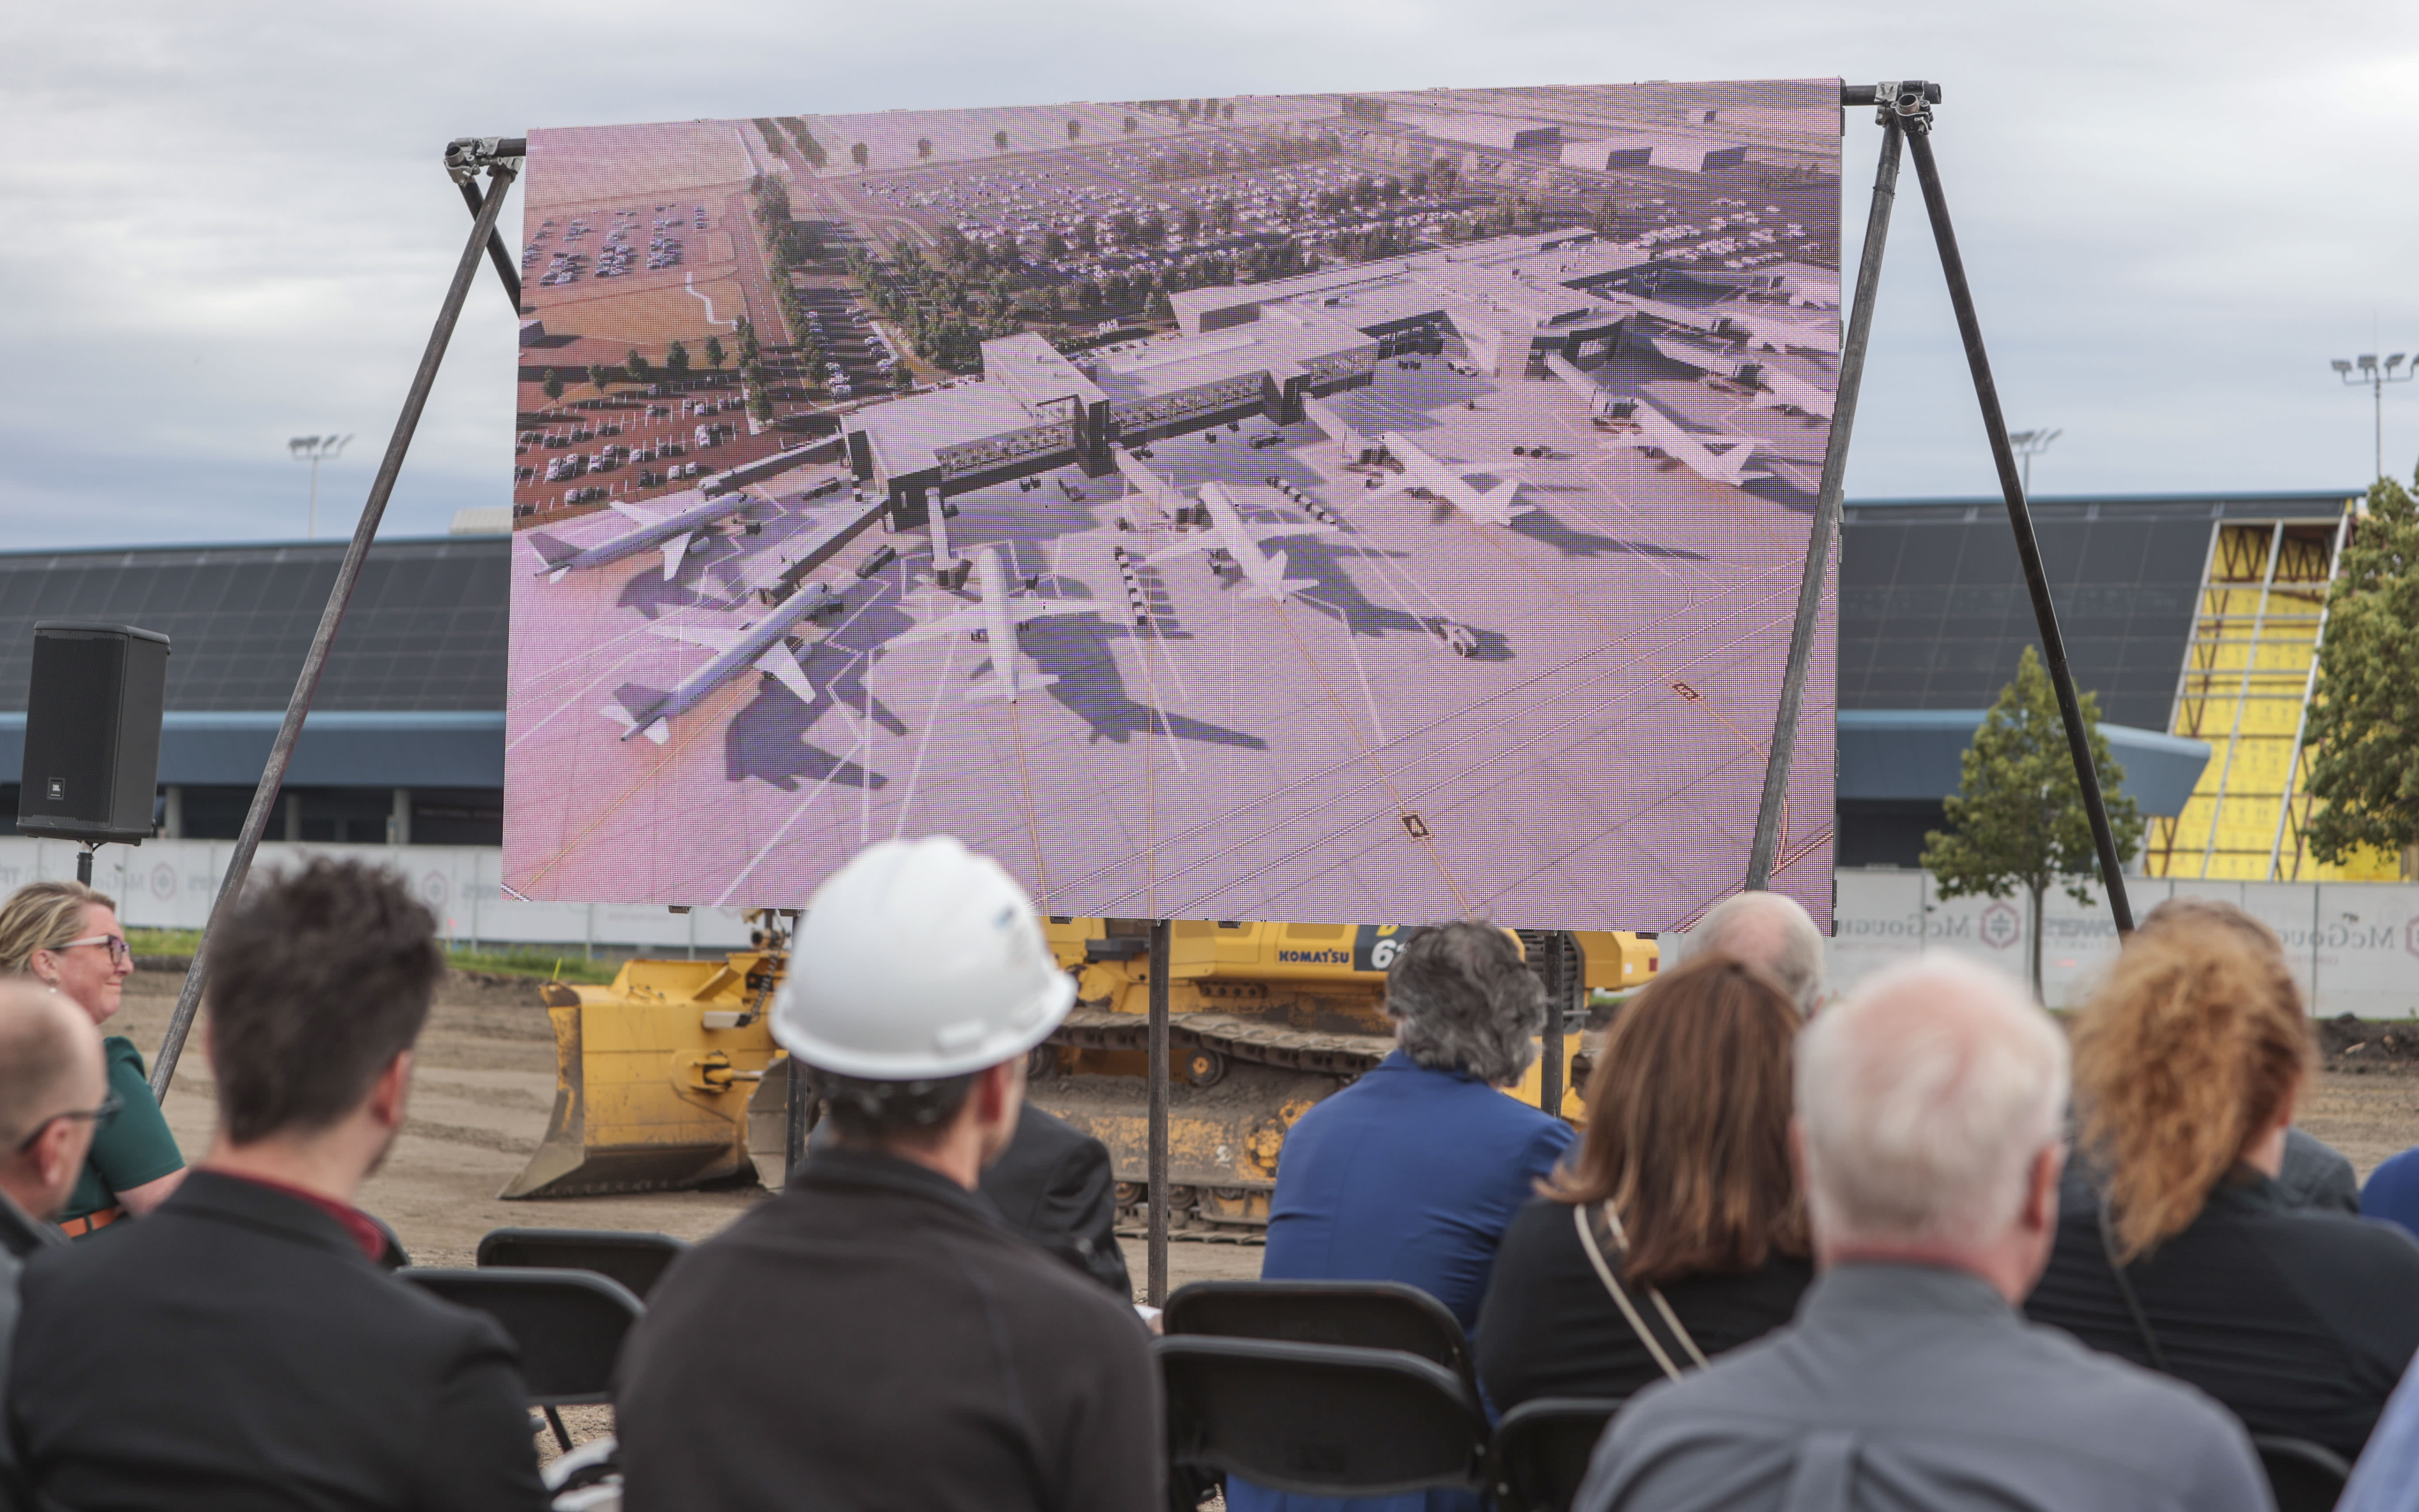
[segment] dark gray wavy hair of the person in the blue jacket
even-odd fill
[[[1546,987],[1522,963],[1519,941],[1495,924],[1459,919],[1410,936],[1386,973],[1386,1011],[1418,1064],[1505,1086],[1536,1060]]]

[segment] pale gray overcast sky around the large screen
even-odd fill
[[[2066,431],[2037,494],[2366,484],[2371,399],[2327,358],[2419,351],[2414,5],[99,0],[0,19],[0,549],[300,537],[314,431],[356,433],[322,477],[343,532],[467,232],[455,135],[1771,75],[1945,80],[2010,426]],[[1848,225],[1877,143],[1851,116]],[[508,501],[513,356],[481,276],[387,535]],[[2404,385],[2388,469],[2414,452]],[[1848,496],[1991,486],[1909,174]]]

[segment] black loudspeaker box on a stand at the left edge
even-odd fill
[[[17,832],[99,844],[152,837],[167,636],[44,619],[24,699]]]

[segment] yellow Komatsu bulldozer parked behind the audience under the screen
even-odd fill
[[[762,1181],[779,1185],[789,1125],[786,1057],[769,1009],[786,968],[786,914],[755,914],[750,951],[721,960],[629,960],[610,987],[547,985],[556,1089],[547,1137],[501,1195],[576,1198]],[[1108,1144],[1120,1205],[1144,1198],[1149,922],[1045,922],[1076,977],[1067,1023],[1033,1050],[1035,1106]],[[1386,968],[1398,924],[1193,922],[1168,929],[1168,1207],[1176,1222],[1268,1222],[1284,1132],[1318,1098],[1393,1050]],[[1565,1118],[1587,1084],[1592,992],[1643,987],[1652,936],[1519,931],[1565,1004]],[[1548,1057],[1524,1084],[1543,1098]]]

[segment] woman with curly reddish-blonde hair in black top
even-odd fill
[[[2146,929],[2073,1043],[2090,1178],[2025,1311],[2356,1459],[2419,1350],[2419,1246],[2276,1190],[2313,1055],[2284,960],[2211,919]]]

